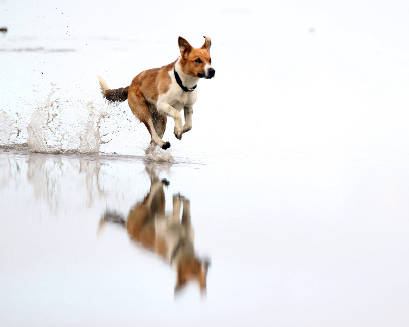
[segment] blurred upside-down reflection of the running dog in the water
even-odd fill
[[[168,186],[169,181],[159,180],[154,167],[146,166],[146,171],[151,177],[151,189],[144,200],[130,209],[126,220],[122,215],[106,211],[100,228],[106,222],[124,226],[132,240],[175,267],[178,274],[175,294],[189,281],[196,280],[203,295],[209,260],[198,259],[195,255],[190,201],[180,194],[173,195],[173,211],[166,215],[164,186]]]

